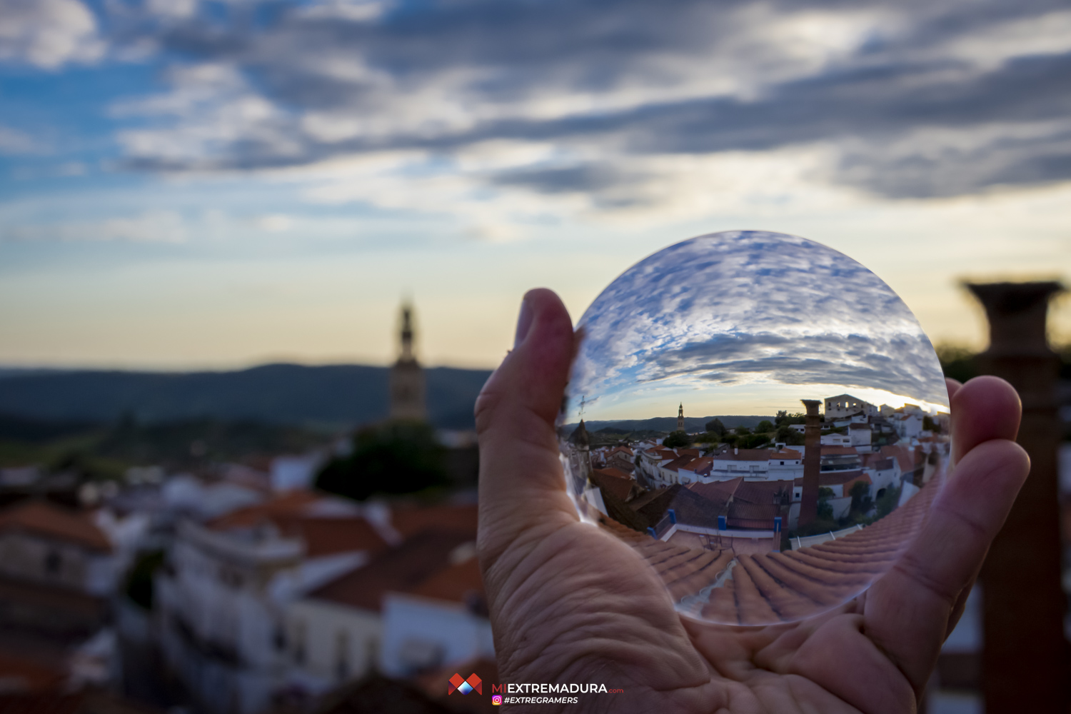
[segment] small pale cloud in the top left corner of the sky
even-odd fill
[[[0,0],[0,61],[55,70],[104,55],[96,18],[78,0]]]

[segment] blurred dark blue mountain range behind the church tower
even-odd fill
[[[471,428],[485,369],[432,367],[428,420]],[[236,371],[151,373],[0,368],[0,415],[162,423],[211,417],[270,424],[355,426],[387,416],[389,367],[270,364]]]

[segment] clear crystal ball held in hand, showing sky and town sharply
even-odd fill
[[[687,617],[765,625],[844,605],[902,556],[947,478],[933,346],[888,285],[820,243],[677,243],[577,329],[567,489]]]

